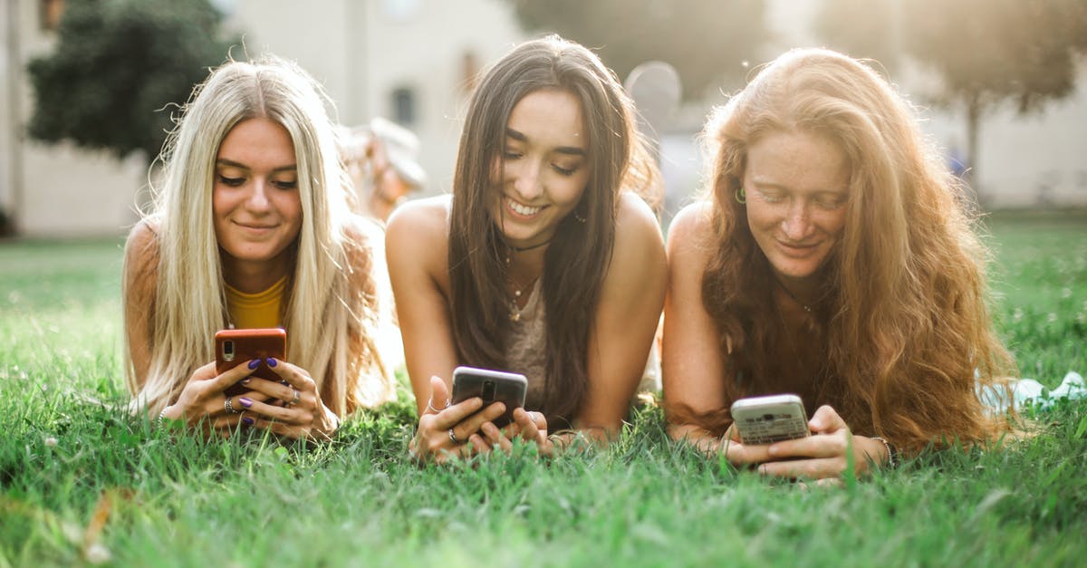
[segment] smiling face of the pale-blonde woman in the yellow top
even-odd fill
[[[239,122],[218,147],[212,188],[215,238],[224,262],[279,262],[298,238],[295,144],[280,124],[264,118]]]

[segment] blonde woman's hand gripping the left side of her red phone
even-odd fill
[[[223,391],[238,381],[248,386],[254,379],[247,378],[258,365],[245,361],[220,375],[215,374],[214,362],[197,369],[182,387],[177,402],[166,407],[163,418],[184,420],[188,427],[197,427],[203,422],[204,427],[212,431],[233,430],[238,425],[241,416],[226,410]],[[239,406],[234,408],[241,409]]]

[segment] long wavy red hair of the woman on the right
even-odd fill
[[[784,330],[770,262],[736,198],[748,148],[775,132],[835,140],[850,163],[840,243],[821,269],[814,332],[826,353],[813,371],[858,433],[917,449],[942,439],[980,441],[1007,430],[987,418],[977,385],[1014,365],[986,307],[987,251],[961,187],[926,144],[912,110],[877,73],[827,50],[796,50],[716,110],[704,137],[716,254],[702,281],[707,310],[732,351],[734,395],[774,380]],[[735,379],[742,373],[745,381]],[[727,415],[717,412],[722,430]]]

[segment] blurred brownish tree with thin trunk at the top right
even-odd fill
[[[934,102],[965,111],[975,169],[985,113],[1005,101],[1038,111],[1072,94],[1077,53],[1087,51],[1084,0],[826,0],[819,22],[851,54],[904,53],[935,69],[944,87]]]

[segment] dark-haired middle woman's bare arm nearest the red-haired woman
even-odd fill
[[[574,427],[590,437],[610,440],[622,428],[660,323],[666,284],[660,224],[641,198],[624,193],[589,331],[588,391],[574,417]]]

